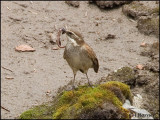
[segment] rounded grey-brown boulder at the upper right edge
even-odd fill
[[[142,16],[138,19],[137,28],[146,35],[159,36],[159,16]]]

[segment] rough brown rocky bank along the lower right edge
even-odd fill
[[[137,85],[142,87],[143,108],[148,110],[154,119],[159,119],[159,41],[149,44],[141,55],[150,58],[144,68],[145,70],[138,70]]]

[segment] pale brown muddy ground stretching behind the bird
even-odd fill
[[[78,8],[64,1],[1,3],[1,105],[10,110],[1,109],[2,119],[15,118],[32,106],[50,101],[60,87],[73,79],[72,70],[63,59],[64,49],[53,50],[57,45],[50,43],[48,33],[65,26],[82,33],[100,64],[97,74],[93,69],[88,72],[93,84],[120,67],[147,63],[150,58],[140,55],[140,44],[158,40],[140,33],[137,22],[127,18],[122,7],[103,10],[87,1],[80,2]],[[108,34],[116,37],[105,40]],[[66,37],[61,40],[65,45]],[[15,51],[21,44],[36,51]],[[78,72],[76,84],[86,83],[85,75]],[[137,89],[139,94],[141,89]]]

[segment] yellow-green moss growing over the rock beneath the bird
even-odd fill
[[[129,111],[122,107],[121,100],[109,88],[117,87],[126,98],[131,96],[129,86],[110,81],[94,88],[79,86],[73,91],[64,91],[52,105],[41,105],[21,114],[21,119],[76,119],[83,113],[89,113],[103,103],[113,104],[122,118],[129,118]]]

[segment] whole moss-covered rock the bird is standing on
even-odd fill
[[[79,86],[64,91],[52,104],[44,104],[20,115],[20,119],[80,119],[105,118],[129,119],[129,111],[122,107],[124,100],[132,101],[130,87],[110,81],[94,88]]]

